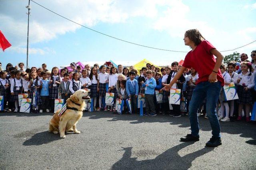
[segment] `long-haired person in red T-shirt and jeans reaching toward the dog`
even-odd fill
[[[206,98],[206,113],[212,127],[212,138],[206,143],[206,146],[216,147],[222,144],[220,139],[220,124],[215,108],[221,87],[224,85],[224,79],[219,69],[223,55],[210,42],[205,40],[197,29],[186,31],[183,40],[185,45],[190,46],[192,50],[186,55],[184,63],[174,79],[163,89],[170,89],[186,68],[193,67],[198,72],[199,78],[196,81],[196,87],[193,91],[188,113],[191,134],[180,138],[180,140],[183,142],[199,140],[199,124],[196,111]]]

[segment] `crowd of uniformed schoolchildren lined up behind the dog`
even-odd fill
[[[250,121],[250,113],[256,101],[256,50],[251,52],[251,57],[252,61],[242,60],[239,69],[235,61],[220,66],[224,84],[229,85],[234,82],[239,97],[237,100],[226,101],[222,88],[216,104],[216,110],[220,108],[218,112],[220,121],[234,121],[235,119],[241,121],[242,116],[245,116],[246,121]],[[169,105],[169,91],[161,91],[178,72],[178,62],[162,68],[147,63],[139,71],[139,75],[133,66],[123,67],[122,65],[118,65],[117,68],[114,65],[101,65],[100,67],[98,64],[94,64],[93,67],[85,65],[85,68],[81,70],[79,65],[70,63],[72,71],[68,71],[66,67],[61,70],[53,67],[51,71],[48,71],[46,64],[42,64],[41,68],[25,69],[24,63],[19,63],[18,67],[19,69],[8,63],[6,70],[0,72],[0,96],[4,96],[4,111],[19,111],[18,94],[20,93],[28,93],[28,97],[32,100],[36,97],[34,99],[36,105],[31,108],[30,112],[42,113],[54,111],[54,99],[66,100],[79,89],[90,89],[94,111],[104,110],[115,113],[117,99],[130,99],[131,113],[136,114],[138,113],[138,95],[145,94],[145,116],[167,114],[180,117],[188,113],[188,106],[198,79],[195,69],[186,69],[178,81],[172,85],[173,89],[181,89],[181,98],[186,100],[186,108],[181,110],[180,105]],[[163,94],[161,102],[156,100],[156,90]],[[34,92],[37,93],[36,96],[33,95]],[[110,107],[104,103],[106,92],[114,93],[114,103]],[[203,113],[207,118],[205,103],[206,101],[198,108],[198,116]],[[128,113],[127,106],[124,111]]]

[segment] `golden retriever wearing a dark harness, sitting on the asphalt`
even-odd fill
[[[80,131],[76,129],[76,123],[81,119],[85,107],[85,100],[89,100],[90,92],[86,90],[78,90],[67,99],[67,109],[58,116],[58,110],[49,122],[49,132],[58,134],[60,132],[61,138],[66,138],[65,132],[74,131],[79,134]]]

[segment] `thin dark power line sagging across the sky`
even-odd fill
[[[31,1],[34,2],[35,4],[38,4],[37,2],[35,2],[35,1],[33,1],[33,0],[31,0]],[[180,53],[187,53],[187,52],[188,52],[188,51],[176,51],[176,50],[155,48],[155,47],[150,47],[150,46],[146,46],[146,45],[142,45],[142,44],[138,44],[138,43],[134,43],[134,42],[129,42],[129,41],[126,41],[126,40],[122,40],[122,39],[120,39],[120,38],[116,38],[116,37],[110,36],[110,35],[108,35],[108,34],[104,34],[104,33],[102,33],[102,32],[93,30],[92,28],[88,28],[88,27],[86,27],[86,26],[83,26],[82,24],[79,24],[79,23],[77,23],[77,22],[74,22],[73,20],[70,20],[70,19],[68,19],[68,18],[66,18],[66,17],[64,17],[64,16],[62,16],[62,15],[60,15],[60,14],[57,14],[56,12],[54,12],[54,11],[52,11],[52,10],[50,10],[50,9],[48,9],[48,8],[46,8],[46,7],[42,6],[42,5],[40,5],[40,4],[38,4],[38,5],[41,6],[42,8],[44,8],[44,9],[46,9],[46,10],[48,10],[48,11],[54,13],[54,14],[56,14],[56,15],[58,15],[58,16],[64,18],[64,19],[66,19],[66,20],[69,20],[70,22],[73,22],[73,23],[75,23],[75,24],[78,24],[78,25],[80,25],[80,26],[82,26],[82,27],[84,27],[84,28],[87,28],[88,30],[97,32],[97,33],[99,33],[99,34],[102,34],[102,35],[104,35],[104,36],[108,36],[108,37],[110,37],[110,38],[114,38],[114,39],[116,39],[116,40],[120,40],[120,41],[122,41],[122,42],[131,43],[131,44],[134,44],[134,45],[139,45],[139,46],[147,47],[147,48],[151,48],[151,49],[158,49],[158,50],[162,50],[162,51],[172,51],[172,52],[180,52]],[[249,44],[254,43],[254,42],[256,42],[256,40],[253,41],[253,42],[250,42],[250,43],[248,43],[248,44],[246,44],[246,45],[249,45]],[[242,48],[242,47],[244,47],[244,46],[246,46],[246,45],[243,45],[243,46],[241,46],[241,47],[237,47],[237,48],[235,48],[235,49]],[[234,51],[235,49],[229,49],[229,50],[224,50],[224,51],[220,51],[220,52]]]

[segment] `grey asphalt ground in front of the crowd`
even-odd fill
[[[52,113],[0,113],[1,169],[256,169],[256,124],[220,122],[222,145],[205,147],[208,119],[199,117],[200,141],[188,116],[140,117],[85,112],[81,134],[48,132]]]

